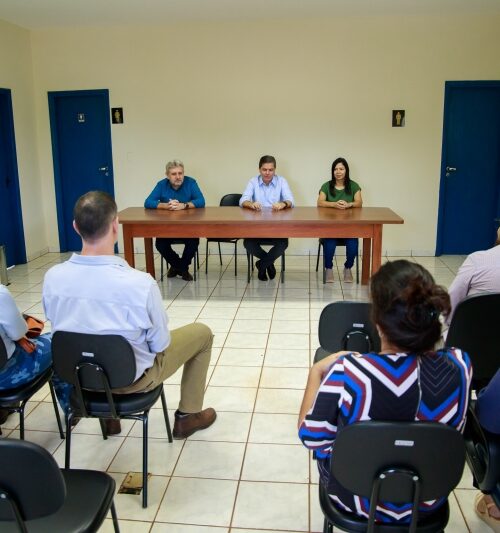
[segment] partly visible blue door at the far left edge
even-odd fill
[[[0,89],[0,245],[7,266],[26,263],[10,89]]]

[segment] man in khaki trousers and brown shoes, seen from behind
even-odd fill
[[[202,410],[212,332],[200,323],[169,332],[156,281],[114,255],[118,217],[111,196],[91,191],[79,198],[73,214],[82,252],[52,267],[43,285],[52,331],[125,337],[135,353],[136,380],[115,392],[149,391],[184,365],[173,436],[184,439],[207,428],[216,418],[212,408]]]

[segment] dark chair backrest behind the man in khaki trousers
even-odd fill
[[[52,362],[63,381],[77,385],[79,379],[84,389],[103,390],[102,375],[95,371],[95,365],[104,370],[112,389],[135,380],[134,351],[121,335],[57,331],[52,337]],[[77,367],[81,367],[79,372]]]

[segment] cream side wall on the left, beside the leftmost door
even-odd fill
[[[0,87],[10,89],[28,259],[47,251],[38,171],[30,33],[0,20]]]

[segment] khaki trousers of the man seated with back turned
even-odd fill
[[[132,385],[113,390],[113,392],[150,391],[184,365],[179,411],[197,413],[203,408],[203,396],[214,336],[208,326],[199,322],[174,329],[170,335],[170,346],[163,352],[156,354],[153,366],[148,368],[143,376]]]

